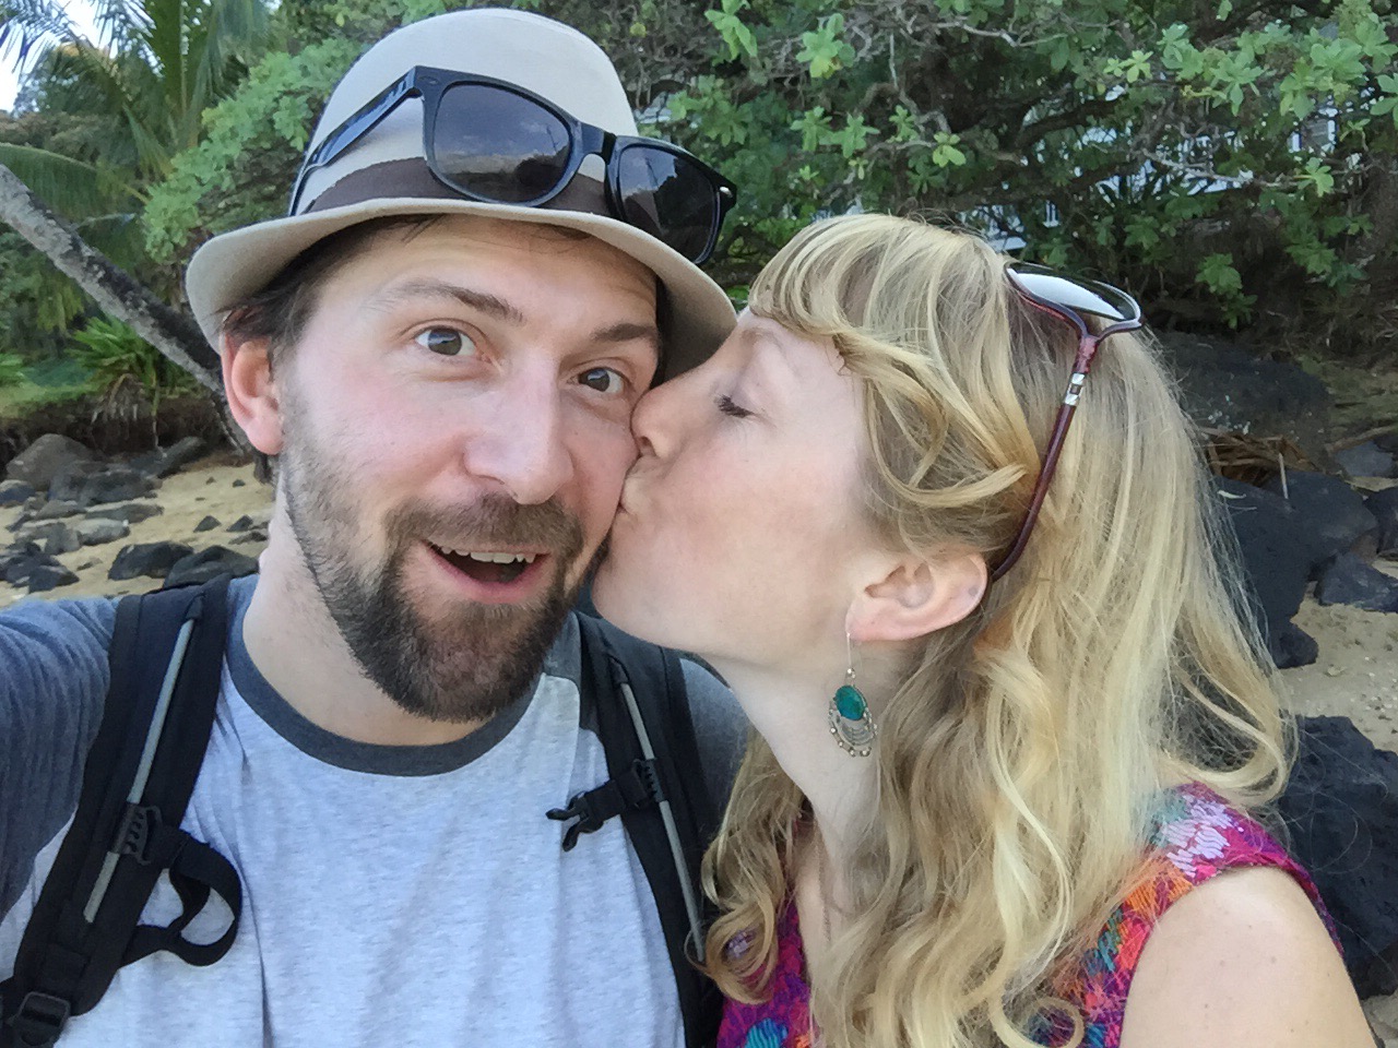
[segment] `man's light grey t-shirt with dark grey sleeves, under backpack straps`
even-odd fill
[[[607,780],[579,692],[572,619],[538,685],[439,746],[331,735],[266,682],[232,629],[208,753],[183,826],[243,882],[228,956],[123,968],[64,1045],[679,1045],[674,974],[619,819],[569,852],[545,812]],[[0,616],[0,978],[75,806],[106,689],[106,601]],[[685,664],[712,778],[741,714]],[[699,770],[695,770],[699,774]],[[144,919],[180,910],[158,886]],[[212,939],[211,907],[186,932]]]

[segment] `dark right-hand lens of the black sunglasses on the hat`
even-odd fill
[[[719,224],[719,196],[705,170],[681,154],[628,145],[617,158],[622,217],[691,261],[703,261]]]

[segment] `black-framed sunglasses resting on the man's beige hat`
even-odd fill
[[[306,157],[288,214],[306,177],[373,130],[405,98],[422,99],[428,169],[468,200],[541,207],[566,189],[584,158],[607,165],[612,215],[705,261],[737,200],[731,182],[677,145],[584,124],[514,84],[415,66],[341,123]]]

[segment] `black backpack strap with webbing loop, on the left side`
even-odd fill
[[[70,1016],[91,1010],[117,968],[155,950],[190,964],[222,957],[238,931],[242,887],[232,865],[180,830],[218,700],[228,623],[228,580],[126,597],[117,604],[102,725],[82,770],[82,792],[0,984],[0,1047],[52,1045]],[[138,925],[169,873],[183,912],[168,926]],[[215,942],[182,936],[208,901],[232,914]]]

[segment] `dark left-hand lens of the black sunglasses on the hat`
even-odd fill
[[[446,89],[432,129],[436,172],[478,197],[523,204],[568,169],[568,126],[537,102],[487,84]]]

